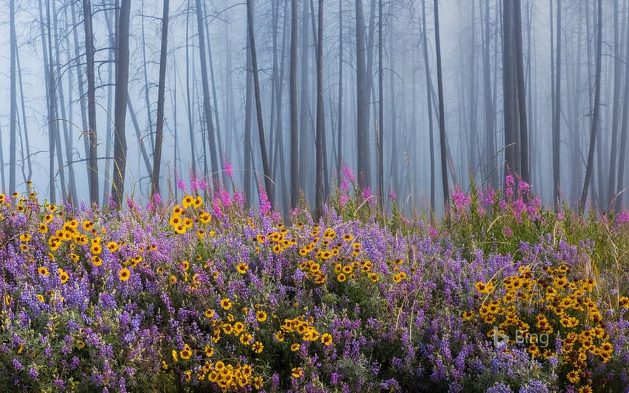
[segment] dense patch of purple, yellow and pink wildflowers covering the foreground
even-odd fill
[[[0,195],[0,386],[71,391],[622,391],[618,217],[524,182],[457,191],[440,225],[375,213],[351,174],[325,217],[194,183],[119,211]],[[603,246],[601,246],[603,242]],[[609,267],[614,267],[610,269]]]

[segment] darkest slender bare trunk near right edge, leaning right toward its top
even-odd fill
[[[585,203],[588,201],[588,186],[592,177],[594,148],[596,145],[596,134],[600,126],[600,68],[601,68],[601,48],[603,46],[603,0],[598,0],[598,34],[596,46],[596,70],[595,70],[595,90],[594,90],[594,114],[592,116],[592,126],[590,131],[590,149],[588,150],[588,165],[585,168],[585,181],[583,182],[583,192],[579,202],[579,211],[583,213]],[[599,192],[602,190],[599,190]]]

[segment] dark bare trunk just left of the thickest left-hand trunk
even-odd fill
[[[83,1],[85,57],[87,74],[87,118],[89,124],[89,202],[98,206],[98,149],[96,141],[96,89],[94,86],[94,38],[91,28],[90,0]]]

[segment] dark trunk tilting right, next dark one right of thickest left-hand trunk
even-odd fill
[[[159,194],[159,166],[162,164],[162,142],[164,140],[164,93],[166,90],[166,55],[168,48],[168,4],[164,0],[162,10],[162,48],[159,53],[159,88],[157,89],[157,124],[155,129],[155,151],[151,176],[151,199]]]

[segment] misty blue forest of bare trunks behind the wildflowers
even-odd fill
[[[513,172],[548,206],[629,201],[629,1],[3,0],[0,32],[7,194],[192,178],[320,211],[351,172],[442,212]]]

